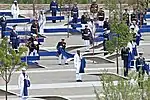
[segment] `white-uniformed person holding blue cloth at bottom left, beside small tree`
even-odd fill
[[[29,96],[28,87],[30,87],[30,84],[31,83],[30,83],[29,75],[27,75],[26,69],[22,68],[22,73],[18,77],[18,86],[20,89],[19,96],[22,99],[25,99],[27,98],[27,96]]]

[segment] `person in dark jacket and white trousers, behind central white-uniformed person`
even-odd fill
[[[84,45],[86,46],[86,52],[89,52],[90,50],[90,36],[91,31],[88,28],[88,25],[85,25],[85,29],[81,30],[82,33],[82,39],[84,40]]]

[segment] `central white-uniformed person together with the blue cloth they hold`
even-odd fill
[[[77,50],[76,54],[74,55],[74,67],[76,68],[76,82],[82,82],[81,73],[84,73],[86,62],[80,54],[80,50]]]

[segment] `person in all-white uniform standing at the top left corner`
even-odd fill
[[[13,15],[14,19],[17,19],[19,16],[19,6],[17,0],[14,0],[11,6],[11,14]]]

